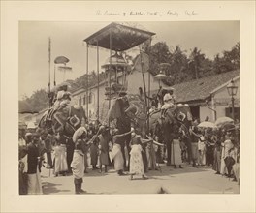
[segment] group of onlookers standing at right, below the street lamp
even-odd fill
[[[216,174],[233,177],[240,183],[240,129],[233,126],[230,129],[192,126],[191,161],[193,167],[212,167]],[[190,163],[187,147],[183,160]]]

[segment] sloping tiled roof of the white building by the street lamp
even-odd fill
[[[240,76],[239,70],[176,84],[173,86],[175,88],[176,102],[204,100],[210,96],[212,90],[236,76]]]

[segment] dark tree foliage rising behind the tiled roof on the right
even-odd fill
[[[163,80],[168,85],[174,85],[204,76],[216,75],[240,68],[240,43],[231,50],[223,51],[223,56],[217,54],[214,60],[206,57],[205,53],[194,47],[190,54],[180,46],[171,50],[165,43],[151,46],[147,54],[150,55],[150,72],[155,76],[160,72],[161,63],[169,63],[170,68],[165,72],[168,76]]]

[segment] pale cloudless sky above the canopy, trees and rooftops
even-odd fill
[[[86,73],[86,44],[83,40],[111,22],[54,22],[19,21],[18,37],[18,98],[30,97],[34,91],[48,86],[48,38],[51,40],[50,78],[53,84],[54,59],[65,56],[72,72],[56,70],[56,82],[76,79]],[[154,32],[152,45],[166,42],[172,50],[181,46],[187,54],[194,47],[210,59],[224,50],[231,50],[240,41],[239,21],[157,21],[125,22]],[[128,51],[133,55],[139,47]],[[110,56],[108,49],[100,49],[100,66]],[[89,48],[89,70],[96,70],[96,49]],[[101,69],[102,71],[102,69]]]

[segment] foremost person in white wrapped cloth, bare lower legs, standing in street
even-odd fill
[[[75,143],[75,150],[73,155],[73,161],[71,163],[72,172],[74,176],[75,184],[75,194],[83,194],[84,190],[81,189],[81,184],[83,182],[83,172],[84,172],[84,153],[81,150],[82,140],[78,139]]]

